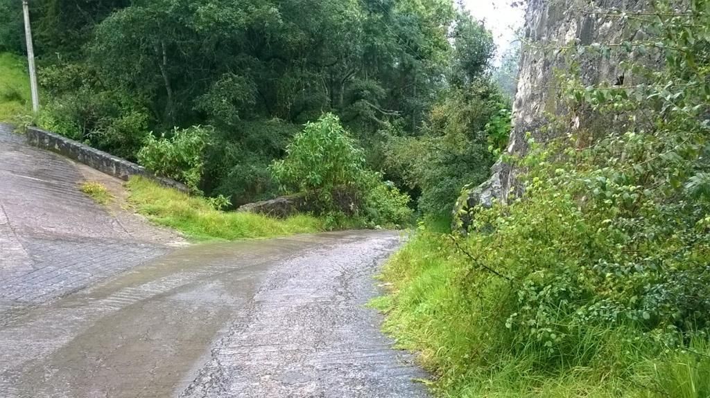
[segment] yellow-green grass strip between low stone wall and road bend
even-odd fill
[[[129,203],[138,213],[197,241],[280,237],[325,229],[323,220],[310,215],[281,220],[248,212],[216,210],[205,198],[159,186],[146,178],[133,177],[126,186]]]

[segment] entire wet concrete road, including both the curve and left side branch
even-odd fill
[[[173,249],[76,170],[0,132],[1,397],[427,396],[364,307],[398,234]]]

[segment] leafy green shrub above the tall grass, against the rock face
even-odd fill
[[[688,127],[613,134],[564,156],[533,145],[525,199],[475,212],[466,283],[471,300],[484,285],[506,292],[498,314],[513,343],[563,358],[578,327],[630,323],[674,346],[677,332],[710,326],[710,203],[680,183],[704,144],[673,137]]]

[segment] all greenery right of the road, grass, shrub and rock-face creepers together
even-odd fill
[[[706,396],[710,3],[683,5],[590,5],[643,39],[552,50],[624,58],[633,78],[567,74],[537,132],[558,138],[506,159],[524,195],[471,210],[466,237],[421,231],[388,265],[387,329],[442,396]]]

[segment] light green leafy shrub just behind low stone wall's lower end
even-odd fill
[[[192,191],[199,191],[202,178],[204,150],[209,142],[210,127],[175,127],[172,135],[160,138],[148,135],[138,151],[138,162],[160,176],[185,183]]]

